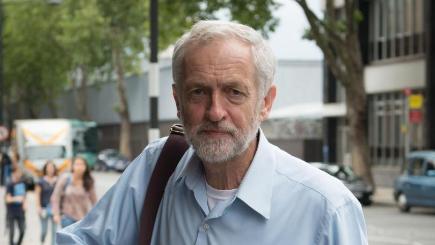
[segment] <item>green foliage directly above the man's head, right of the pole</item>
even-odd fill
[[[259,30],[264,36],[273,32],[279,8],[274,0],[160,0],[159,47],[166,48],[198,20],[225,17]]]

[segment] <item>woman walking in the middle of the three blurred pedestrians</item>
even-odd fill
[[[41,219],[41,243],[43,244],[47,236],[48,223],[51,226],[51,243],[55,244],[56,223],[53,220],[53,211],[50,198],[57,181],[56,165],[52,161],[47,161],[42,169],[42,177],[35,186],[36,210]]]

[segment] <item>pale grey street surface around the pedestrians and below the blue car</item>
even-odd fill
[[[119,174],[94,173],[98,197],[101,197]],[[4,188],[0,188],[4,196]],[[39,244],[39,219],[34,207],[34,195],[28,195],[27,230],[24,245]],[[435,209],[415,208],[403,214],[394,206],[391,189],[379,188],[375,203],[364,208],[370,245],[433,245],[435,244]],[[5,207],[0,206],[0,245],[6,245]],[[49,241],[46,241],[49,244]]]

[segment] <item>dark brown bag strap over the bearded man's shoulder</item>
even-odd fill
[[[184,139],[183,126],[179,124],[173,125],[148,184],[140,217],[139,245],[151,244],[154,222],[166,183],[188,147],[189,145]]]

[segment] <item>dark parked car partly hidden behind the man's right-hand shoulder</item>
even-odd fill
[[[362,205],[372,204],[373,187],[357,176],[350,166],[320,162],[311,164],[341,180]]]

